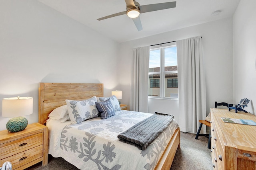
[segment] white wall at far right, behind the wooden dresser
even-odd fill
[[[256,1],[241,0],[233,16],[234,102],[250,99],[244,109],[256,115]]]

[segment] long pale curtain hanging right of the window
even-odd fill
[[[176,41],[178,57],[179,125],[183,132],[196,133],[206,117],[206,84],[201,37]],[[203,133],[206,129],[203,128]]]

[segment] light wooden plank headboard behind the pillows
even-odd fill
[[[92,96],[103,97],[103,84],[40,83],[38,96],[38,122],[45,124],[48,115],[65,100],[86,100]]]

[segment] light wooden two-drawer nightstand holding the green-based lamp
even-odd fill
[[[48,164],[48,127],[29,124],[20,132],[0,131],[0,165],[9,161],[12,169],[23,170],[42,161]]]

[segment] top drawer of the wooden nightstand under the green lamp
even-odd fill
[[[3,143],[0,145],[0,148],[1,152],[4,154],[0,155],[0,160],[39,145],[43,145],[43,133],[38,133],[18,139],[16,141]]]

